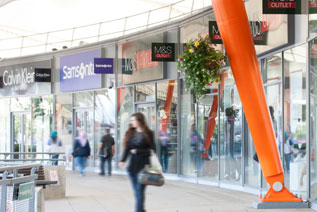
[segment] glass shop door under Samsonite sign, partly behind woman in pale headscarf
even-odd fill
[[[85,108],[85,109],[75,109],[74,110],[74,140],[79,136],[80,132],[83,131],[87,135],[87,139],[89,141],[91,153],[90,160],[87,162],[87,166],[94,166],[94,113],[93,109]]]

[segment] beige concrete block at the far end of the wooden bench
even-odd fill
[[[66,196],[65,166],[44,166],[44,173],[45,173],[46,180],[52,180],[50,176],[50,171],[56,171],[58,175],[58,184],[46,186],[46,188],[44,189],[45,200],[65,198]]]

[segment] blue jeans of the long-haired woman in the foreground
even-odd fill
[[[129,178],[131,180],[131,184],[133,187],[133,192],[135,196],[135,201],[136,201],[136,212],[145,212],[144,209],[144,201],[145,201],[145,187],[146,185],[140,184],[138,182],[138,177],[137,174],[133,174],[131,172],[128,172]]]

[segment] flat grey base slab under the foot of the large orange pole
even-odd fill
[[[255,209],[309,208],[309,202],[253,202]]]

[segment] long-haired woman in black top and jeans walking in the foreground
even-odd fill
[[[145,117],[142,113],[134,113],[130,119],[130,126],[124,140],[124,153],[120,162],[123,167],[129,154],[131,154],[128,166],[128,174],[133,187],[136,209],[135,212],[145,212],[145,185],[138,182],[138,173],[150,164],[151,150],[155,151],[154,137],[152,130],[146,125]]]

